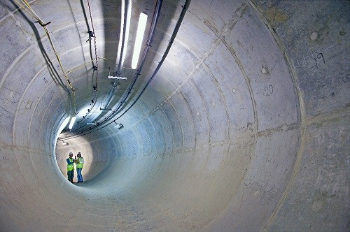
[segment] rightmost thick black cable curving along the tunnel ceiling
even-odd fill
[[[176,22],[176,26],[174,28],[174,31],[172,33],[172,37],[170,38],[170,41],[167,45],[167,49],[165,50],[165,53],[162,56],[162,59],[160,60],[158,66],[155,68],[155,71],[153,72],[153,74],[151,75],[151,78],[148,79],[148,82],[146,83],[146,85],[144,86],[144,88],[142,89],[141,93],[139,94],[139,96],[137,96],[137,99],[134,101],[134,103],[132,103],[124,112],[122,115],[118,116],[116,119],[113,119],[113,121],[102,125],[102,122],[97,123],[95,126],[90,127],[88,130],[83,130],[83,131],[79,131],[78,133],[71,135],[71,136],[65,136],[64,138],[59,138],[59,140],[62,139],[67,139],[67,138],[76,138],[78,136],[83,136],[86,135],[88,133],[92,133],[94,131],[98,131],[99,129],[103,129],[104,127],[108,126],[109,124],[112,123],[116,123],[116,120],[119,119],[120,117],[122,117],[123,115],[125,115],[125,113],[127,113],[128,110],[130,110],[130,108],[132,108],[132,106],[134,106],[134,104],[139,100],[139,98],[141,97],[141,95],[144,93],[144,91],[146,90],[146,88],[148,87],[148,85],[151,83],[151,80],[153,80],[153,78],[155,77],[155,75],[158,73],[160,67],[162,66],[163,62],[165,61],[165,58],[167,57],[170,48],[172,47],[172,43],[174,43],[174,39],[176,38],[176,34],[179,31],[179,28],[181,26],[181,23],[183,21],[183,17],[186,14],[186,11],[188,9],[188,7],[190,6],[190,0],[186,0],[185,4],[183,5],[183,9],[181,10],[181,14],[179,16],[179,20]],[[113,115],[115,116],[115,115]],[[99,126],[99,127],[97,127]],[[94,129],[97,128],[97,129]],[[93,130],[94,129],[94,130]]]

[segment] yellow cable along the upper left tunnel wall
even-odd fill
[[[71,99],[71,102],[73,104],[73,113],[76,114],[76,92],[75,92],[75,89],[73,88],[72,83],[70,82],[70,80],[69,80],[69,78],[67,76],[67,73],[64,71],[64,68],[63,68],[63,65],[62,65],[62,61],[59,58],[58,52],[57,52],[57,50],[55,48],[55,45],[52,42],[52,38],[50,36],[50,33],[48,32],[48,28],[46,27],[48,24],[50,24],[50,22],[45,24],[43,22],[43,20],[41,20],[41,18],[38,17],[38,15],[36,15],[36,13],[34,12],[34,10],[31,8],[31,6],[29,5],[29,3],[26,0],[22,0],[22,3],[24,5],[22,5],[22,3],[20,3],[18,0],[15,0],[15,2],[18,3],[18,5],[21,8],[25,9],[27,11],[27,13],[29,13],[29,15],[31,15],[32,17],[34,17],[36,19],[36,21],[41,25],[41,27],[43,27],[46,36],[48,36],[48,40],[50,41],[50,45],[51,45],[52,50],[55,53],[56,59],[58,61],[59,68],[61,68],[61,71],[62,71],[62,73],[64,75],[64,78],[66,78],[66,82],[68,84],[69,89],[71,89],[71,91],[73,92],[73,99]],[[70,96],[70,98],[71,98],[71,96]]]

